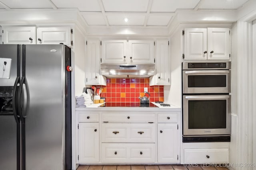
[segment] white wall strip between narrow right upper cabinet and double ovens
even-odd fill
[[[164,101],[181,107],[181,63],[182,63],[182,29],[178,29],[170,40],[171,47],[171,85],[164,86]]]

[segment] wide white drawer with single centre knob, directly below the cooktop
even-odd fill
[[[102,113],[102,121],[108,122],[155,122],[154,113]]]

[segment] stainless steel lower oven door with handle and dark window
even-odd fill
[[[230,135],[229,95],[183,96],[183,135]]]

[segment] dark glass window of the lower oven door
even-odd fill
[[[226,128],[226,100],[188,101],[188,129]]]

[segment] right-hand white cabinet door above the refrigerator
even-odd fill
[[[36,31],[37,44],[71,45],[71,29],[69,27],[39,27]]]

